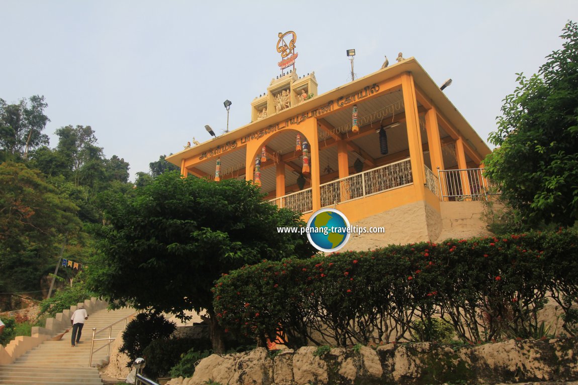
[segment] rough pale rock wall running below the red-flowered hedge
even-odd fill
[[[280,352],[212,356],[202,360],[190,379],[169,385],[401,384],[560,382],[578,379],[578,339],[526,340],[450,346],[390,343],[376,350],[334,348],[321,356],[316,347]],[[275,353],[278,353],[275,355]]]

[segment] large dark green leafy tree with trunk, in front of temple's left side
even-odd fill
[[[90,285],[110,303],[176,313],[206,310],[213,347],[223,331],[212,288],[222,274],[262,259],[310,257],[305,236],[278,226],[303,226],[299,214],[264,203],[246,181],[206,181],[163,173],[134,195],[117,195],[106,211],[101,253],[92,259]]]

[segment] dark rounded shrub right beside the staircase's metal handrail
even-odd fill
[[[136,358],[143,357],[144,349],[155,339],[168,339],[176,330],[176,324],[155,311],[138,313],[134,320],[127,324],[123,332],[123,345],[118,349],[127,354],[132,365]]]

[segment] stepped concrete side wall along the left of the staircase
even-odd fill
[[[105,309],[108,306],[108,302],[97,300],[97,298],[91,298],[83,302],[79,302],[76,306],[71,306],[70,309],[65,310],[62,313],[57,313],[54,318],[49,318],[46,320],[46,327],[35,326],[32,327],[32,337],[19,336],[10,341],[6,347],[0,345],[0,364],[12,364],[16,358],[22,356],[28,350],[40,345],[40,343],[45,342],[47,339],[51,339],[55,335],[65,331],[67,328],[71,327],[71,316],[72,313],[78,308],[78,306],[84,305],[84,308],[88,313],[95,312],[97,310]]]

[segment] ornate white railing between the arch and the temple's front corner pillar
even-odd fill
[[[320,185],[321,207],[413,184],[409,158]]]

